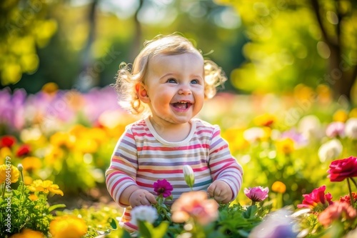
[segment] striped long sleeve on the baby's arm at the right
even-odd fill
[[[243,169],[231,155],[227,142],[221,137],[218,127],[213,130],[209,148],[209,167],[213,181],[219,179],[226,182],[232,189],[234,199],[243,182]]]

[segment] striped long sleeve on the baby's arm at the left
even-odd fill
[[[116,144],[111,156],[111,164],[106,170],[106,187],[121,207],[128,207],[128,204],[121,204],[119,199],[121,193],[127,187],[136,185],[136,171],[138,169],[138,157],[136,142],[129,127]]]

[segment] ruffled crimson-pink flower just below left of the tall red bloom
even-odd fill
[[[322,210],[333,204],[332,195],[328,192],[325,194],[326,186],[323,185],[318,189],[313,189],[311,194],[303,194],[303,204],[298,204],[298,208],[311,208],[315,210]]]

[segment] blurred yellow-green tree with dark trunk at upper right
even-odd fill
[[[231,75],[238,89],[328,84],[336,98],[351,98],[357,76],[357,1],[215,1],[236,9],[250,40],[243,47],[248,61]]]

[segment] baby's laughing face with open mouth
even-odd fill
[[[204,101],[200,54],[157,55],[150,59],[146,93],[154,119],[184,124],[201,111]]]

